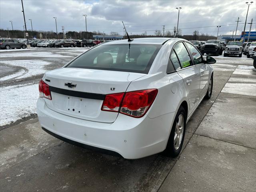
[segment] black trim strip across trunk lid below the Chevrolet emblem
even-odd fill
[[[62,88],[56,88],[49,86],[49,90],[51,92],[59,93],[62,95],[68,95],[73,97],[79,97],[79,98],[87,98],[87,99],[97,99],[97,100],[104,100],[105,95],[99,94],[99,93],[87,93],[87,92],[80,92],[80,91],[73,91],[73,90],[67,90]]]

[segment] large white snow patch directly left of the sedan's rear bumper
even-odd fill
[[[0,126],[36,114],[38,84],[0,88]]]

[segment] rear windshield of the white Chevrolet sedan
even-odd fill
[[[147,74],[162,45],[102,44],[85,52],[66,67]]]

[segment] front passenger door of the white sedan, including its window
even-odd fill
[[[193,58],[194,65],[200,72],[200,88],[199,88],[199,99],[201,100],[207,92],[207,84],[209,80],[209,68],[203,63],[203,58],[200,52],[190,43],[185,42],[188,50]]]

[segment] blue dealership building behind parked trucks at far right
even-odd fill
[[[246,32],[244,32],[245,33],[245,35],[244,35],[244,41],[245,42],[247,42],[248,41],[248,36],[249,36],[249,32],[248,31],[246,31]],[[234,39],[236,38],[236,41],[242,41],[242,38],[243,38],[243,32],[242,32],[242,34],[240,34],[240,35],[233,35],[233,38],[232,38],[232,34],[231,35],[220,35],[220,36],[218,36],[218,40],[220,40],[220,41],[224,41],[225,43],[226,42],[229,42],[229,41],[234,41]],[[256,41],[256,31],[251,31],[250,32],[250,39],[249,39],[249,42],[252,42],[252,41]]]

